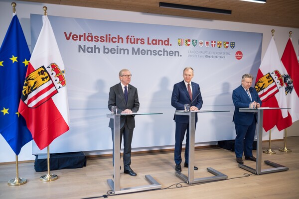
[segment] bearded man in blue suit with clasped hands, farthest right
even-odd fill
[[[233,102],[235,112],[233,122],[236,128],[235,153],[237,163],[243,164],[243,151],[245,160],[256,161],[252,155],[252,144],[256,130],[257,115],[252,112],[240,112],[239,108],[259,108],[262,101],[257,91],[251,87],[253,76],[245,74],[242,76],[242,84],[233,91]]]

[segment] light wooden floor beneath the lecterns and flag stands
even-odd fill
[[[237,166],[234,152],[218,147],[200,148],[195,151],[195,178],[212,176],[206,171],[212,167],[228,176],[227,180],[206,184],[188,185],[174,175],[173,152],[133,154],[132,169],[137,177],[121,171],[121,188],[149,185],[145,175],[151,175],[161,184],[161,190],[109,195],[112,199],[299,199],[299,137],[289,137],[291,153],[280,152],[284,141],[272,141],[275,155],[263,154],[262,160],[271,160],[289,167],[289,171],[263,175],[250,175]],[[263,149],[269,143],[263,143]],[[255,153],[256,151],[254,151]],[[121,161],[122,162],[122,161]],[[245,160],[255,168],[255,162]],[[262,169],[271,168],[262,163]],[[187,175],[188,169],[182,171]],[[0,199],[96,199],[110,190],[106,180],[112,179],[111,157],[88,158],[81,169],[51,171],[58,175],[52,182],[41,182],[39,177],[47,172],[35,172],[34,163],[20,163],[19,177],[27,179],[21,186],[11,187],[7,181],[15,178],[15,165],[0,165]],[[178,184],[179,183],[179,184]],[[180,188],[178,188],[180,187]]]

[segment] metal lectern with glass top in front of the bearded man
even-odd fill
[[[252,112],[258,114],[258,123],[257,123],[257,162],[256,162],[256,168],[251,168],[249,166],[246,166],[245,164],[238,164],[238,167],[245,169],[251,173],[254,173],[256,175],[260,174],[268,174],[268,173],[274,173],[279,171],[288,171],[289,168],[285,167],[283,165],[271,162],[269,160],[265,160],[265,163],[267,165],[270,165],[275,168],[270,169],[263,169],[262,170],[262,138],[263,138],[263,111],[264,110],[271,110],[271,109],[289,109],[289,108],[270,108],[270,107],[260,107],[258,109],[250,109],[250,108],[239,108],[240,112]]]

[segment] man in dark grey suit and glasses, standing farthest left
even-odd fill
[[[128,69],[123,69],[119,72],[120,83],[114,85],[109,91],[108,108],[111,110],[111,106],[117,106],[117,113],[133,113],[139,110],[139,100],[137,89],[130,85],[131,73]],[[110,119],[109,127],[112,132],[113,138],[113,119]],[[134,115],[122,115],[121,116],[121,144],[122,137],[124,135],[124,173],[131,176],[137,176],[137,174],[131,169],[131,143],[133,138],[133,130],[135,128]],[[113,149],[113,162],[114,162],[114,149]]]

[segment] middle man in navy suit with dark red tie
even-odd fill
[[[191,82],[193,78],[193,69],[191,67],[186,67],[183,70],[182,82],[179,82],[173,86],[171,105],[175,107],[175,110],[184,110],[184,104],[190,104],[190,110],[199,110],[202,106],[202,97],[200,94],[199,85]],[[181,152],[182,152],[182,142],[184,140],[185,132],[186,134],[186,148],[185,148],[185,163],[184,167],[189,165],[189,116],[187,115],[175,115],[175,145],[174,145],[174,162],[175,171],[181,171],[182,162]],[[197,113],[195,115],[195,126],[197,122]],[[194,166],[194,170],[198,170]]]

